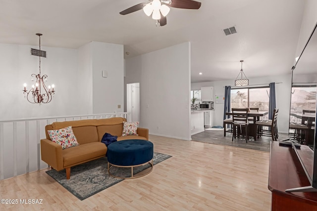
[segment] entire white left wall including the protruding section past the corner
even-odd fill
[[[123,112],[123,45],[90,42],[78,49],[41,46],[41,75],[55,84],[48,104],[31,104],[23,94],[39,73],[38,46],[0,43],[0,120]],[[102,78],[102,71],[108,72]],[[118,109],[117,105],[121,105]]]

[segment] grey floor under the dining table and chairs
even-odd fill
[[[278,133],[277,141],[287,139],[288,134]],[[270,142],[272,140],[271,137],[262,136],[257,138],[255,141],[253,137],[250,137],[248,143],[246,143],[245,137],[240,136],[238,138],[232,139],[232,133],[227,132],[226,136],[223,136],[223,129],[220,128],[205,128],[204,132],[197,133],[192,135],[192,141],[200,141],[211,144],[218,145],[228,145],[235,147],[242,147],[246,149],[254,149],[269,152],[270,151]]]

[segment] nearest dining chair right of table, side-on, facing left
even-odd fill
[[[257,137],[270,136],[273,141],[277,141],[278,130],[277,130],[277,114],[278,109],[274,109],[272,120],[260,120],[256,122],[257,125]]]

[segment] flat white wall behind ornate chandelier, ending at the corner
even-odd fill
[[[41,58],[41,74],[48,75],[46,84],[55,84],[54,99],[40,106],[24,98],[23,84],[29,89],[31,74],[39,73],[39,57],[30,54],[31,47],[38,48],[0,44],[0,120],[80,114],[76,49],[41,46],[47,51],[47,58]]]

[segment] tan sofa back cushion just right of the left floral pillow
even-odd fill
[[[96,126],[73,127],[73,131],[79,144],[99,141]]]

